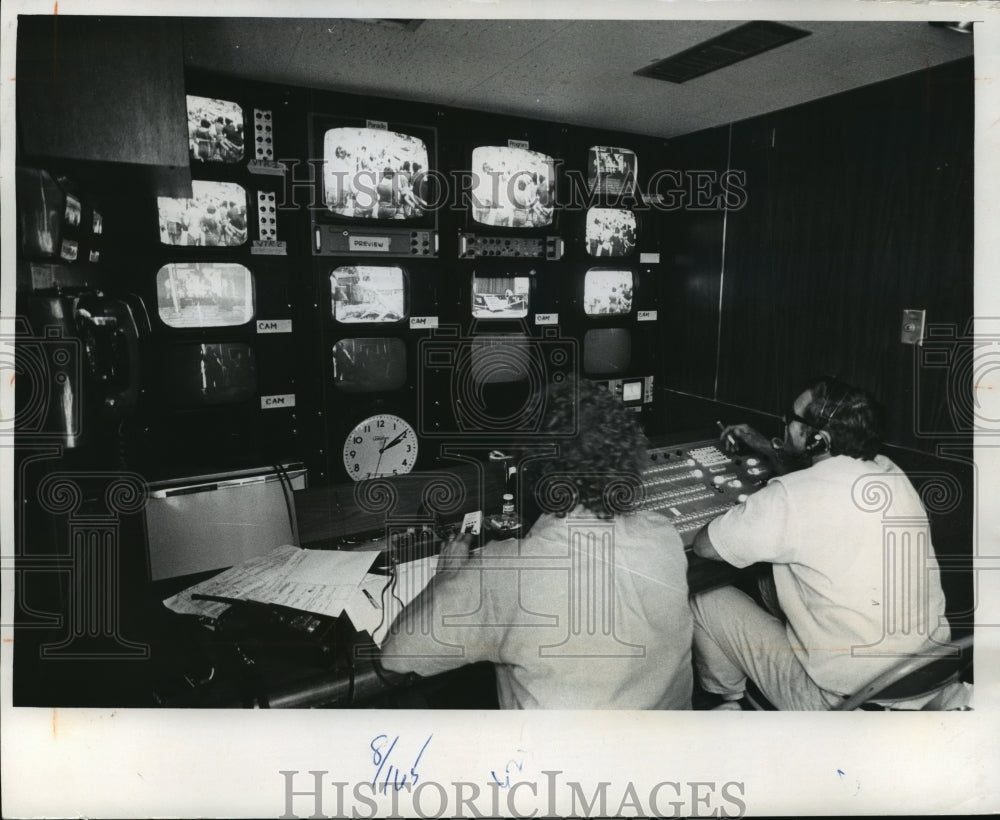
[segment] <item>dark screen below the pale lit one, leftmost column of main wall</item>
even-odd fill
[[[168,400],[178,408],[246,401],[257,392],[257,367],[242,342],[178,345],[163,370]]]

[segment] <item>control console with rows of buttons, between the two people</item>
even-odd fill
[[[705,524],[763,487],[771,470],[756,456],[729,455],[716,439],[654,447],[643,470],[643,509],[656,510],[690,548]]]

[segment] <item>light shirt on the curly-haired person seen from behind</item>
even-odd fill
[[[691,708],[687,560],[655,513],[542,516],[431,592],[428,628],[383,644],[387,668],[492,661],[504,709]]]

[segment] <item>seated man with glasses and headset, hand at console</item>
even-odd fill
[[[872,396],[818,379],[784,423],[785,463],[804,466],[709,523],[693,547],[737,567],[770,563],[781,615],[733,587],[696,596],[695,668],[723,701],[739,701],[749,677],[779,709],[824,710],[950,630],[926,513],[903,472],[876,453]],[[723,436],[764,441],[739,427]],[[890,521],[920,535],[887,538]]]

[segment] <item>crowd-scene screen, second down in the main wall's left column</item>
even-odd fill
[[[191,199],[156,198],[164,245],[233,247],[247,241],[247,193],[235,182],[196,179]]]

